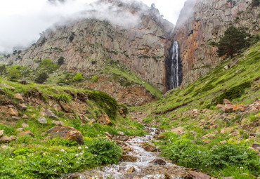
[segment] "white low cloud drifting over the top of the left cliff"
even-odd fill
[[[112,4],[110,0],[98,3],[88,0],[88,4],[83,0],[45,0],[37,11],[0,17],[0,52],[10,53],[15,48],[30,46],[39,39],[40,32],[53,25],[64,25],[68,20],[97,18],[124,27],[138,25],[138,11],[145,11],[148,6],[133,0],[124,0],[123,4],[134,6],[136,11],[125,11],[124,7]]]

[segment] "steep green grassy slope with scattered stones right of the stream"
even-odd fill
[[[145,113],[145,123],[166,130],[155,144],[176,164],[217,178],[254,178],[260,175],[258,150],[250,148],[260,141],[259,89],[260,42],[186,88],[131,111]],[[223,99],[256,110],[225,113],[216,109]]]

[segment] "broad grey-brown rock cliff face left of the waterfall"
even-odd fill
[[[106,60],[118,60],[160,91],[165,91],[164,60],[169,53],[174,25],[163,20],[155,8],[141,12],[122,4],[117,6],[121,11],[137,15],[138,25],[126,28],[105,20],[78,20],[46,30],[36,44],[12,56],[8,62],[36,68],[37,60],[50,58],[57,62],[63,56],[65,64],[61,69],[87,76],[100,72]]]

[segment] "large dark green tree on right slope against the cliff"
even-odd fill
[[[238,53],[242,48],[249,46],[249,42],[247,41],[247,37],[250,34],[245,32],[245,30],[240,30],[236,27],[229,27],[224,37],[221,37],[218,43],[218,53],[219,56],[229,55],[230,58],[233,58],[235,53]]]

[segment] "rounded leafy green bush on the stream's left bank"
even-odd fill
[[[96,164],[117,164],[122,156],[122,149],[114,141],[97,138],[86,141],[89,152],[94,155]]]

